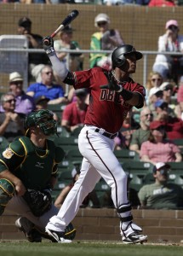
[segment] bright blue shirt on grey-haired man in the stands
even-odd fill
[[[49,98],[49,100],[58,99],[60,97],[64,97],[64,90],[59,84],[52,84],[51,87],[47,87],[45,84],[42,83],[35,83],[31,84],[27,90],[34,92],[34,99],[39,96],[45,96]]]

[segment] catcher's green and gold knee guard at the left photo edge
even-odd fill
[[[0,216],[14,195],[14,184],[6,178],[0,178]]]

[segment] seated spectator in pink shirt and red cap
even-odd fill
[[[153,165],[157,162],[180,162],[182,160],[180,148],[166,140],[165,126],[162,122],[154,120],[150,124],[148,141],[141,144],[140,160]]]

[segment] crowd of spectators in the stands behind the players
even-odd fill
[[[155,4],[155,1],[153,3],[152,1],[141,1],[138,4],[152,6]],[[124,4],[125,1],[121,2],[105,1],[104,3],[107,5]],[[30,3],[38,2],[31,1]],[[54,2],[45,1],[45,3]],[[112,50],[118,45],[124,44],[120,33],[109,27],[108,15],[97,15],[94,19],[94,26],[97,28],[97,32],[91,35],[90,49]],[[115,150],[125,148],[135,151],[139,155],[140,161],[152,163],[154,166],[152,175],[155,178],[155,183],[141,188],[139,197],[136,192],[135,198],[137,199],[134,200],[134,207],[167,207],[171,209],[183,207],[183,199],[180,197],[181,188],[176,184],[168,183],[170,166],[167,164],[168,162],[182,161],[180,147],[174,143],[174,140],[183,139],[183,73],[178,72],[183,71],[183,61],[179,55],[163,55],[163,51],[182,52],[183,37],[179,35],[179,25],[176,20],[168,20],[165,31],[164,35],[158,38],[158,51],[162,54],[157,55],[146,83],[145,107],[140,111],[133,108],[128,113],[118,137],[115,138]],[[23,17],[19,20],[18,33],[26,35],[29,48],[42,48],[42,36],[31,33],[29,18]],[[64,52],[64,49],[81,49],[72,37],[73,29],[71,26],[66,26],[60,32],[59,39],[54,41],[55,50],[60,61],[65,62],[71,71],[82,70],[83,55],[74,53],[68,59],[68,54]],[[111,55],[90,54],[89,65],[110,70],[112,68]],[[65,106],[63,111],[54,113],[54,119],[58,121],[58,125],[65,128],[70,136],[75,129],[81,129],[88,106],[89,91],[71,88],[66,94],[66,84],[60,82],[45,54],[29,55],[29,75],[32,83],[25,91],[23,90],[24,78],[22,75],[16,70],[9,74],[9,91],[1,96],[0,137],[5,137],[12,142],[14,138],[23,136],[25,132],[23,121],[27,113],[38,109],[49,109],[58,104]],[[135,119],[136,114],[139,119]],[[78,175],[79,173],[73,175],[73,183]],[[66,196],[65,193],[68,193],[73,183],[61,192],[55,201],[57,207],[60,207]],[[109,191],[102,198],[103,207],[112,207],[108,193]],[[172,196],[169,197],[170,194]],[[129,192],[129,195],[132,194]],[[89,205],[89,198],[83,202],[85,207]],[[96,197],[95,199],[93,205],[99,207],[100,203]]]

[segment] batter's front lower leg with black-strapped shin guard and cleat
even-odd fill
[[[121,205],[117,208],[117,213],[120,217],[120,232],[123,243],[143,243],[147,241],[147,236],[140,235],[141,228],[132,222],[130,204]]]

